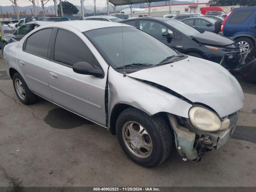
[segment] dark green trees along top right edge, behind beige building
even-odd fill
[[[212,6],[247,5],[256,6],[256,0],[210,0]]]

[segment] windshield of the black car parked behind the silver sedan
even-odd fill
[[[173,28],[176,28],[176,30],[182,32],[183,34],[187,36],[193,36],[193,35],[198,35],[201,34],[198,30],[195,28],[192,28],[191,26],[184,24],[180,21],[177,20],[165,20],[165,23],[169,24]]]

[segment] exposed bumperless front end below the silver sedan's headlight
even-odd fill
[[[174,130],[175,145],[178,154],[186,161],[200,161],[206,152],[212,149],[218,150],[234,133],[238,112],[225,117],[230,121],[228,128],[215,132],[207,132],[194,128],[188,118],[168,114],[168,119]]]

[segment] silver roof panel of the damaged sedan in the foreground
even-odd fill
[[[94,29],[107,28],[107,27],[121,27],[121,23],[106,22],[106,21],[94,21],[94,20],[74,20],[74,21],[62,21],[62,22],[48,22],[45,27],[63,27],[70,26],[77,29],[80,32],[85,32]],[[132,27],[130,25],[123,24],[126,27]]]

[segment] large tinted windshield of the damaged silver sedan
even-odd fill
[[[167,57],[179,55],[156,38],[132,27],[101,28],[84,34],[114,68],[131,64],[157,65]]]

